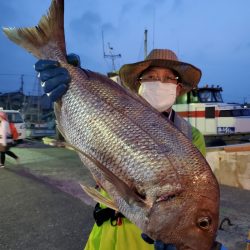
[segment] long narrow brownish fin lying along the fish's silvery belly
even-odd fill
[[[129,205],[136,203],[140,207],[145,207],[145,206],[148,207],[148,204],[145,202],[143,197],[141,197],[137,192],[135,192],[134,188],[130,188],[123,180],[121,180],[119,177],[113,174],[97,159],[85,153],[81,149],[78,149],[74,145],[71,145],[70,143],[65,143],[65,145],[68,145],[69,147],[73,148],[76,152],[82,154],[87,159],[92,161],[95,164],[95,166],[101,170],[106,180],[115,186],[116,191]]]

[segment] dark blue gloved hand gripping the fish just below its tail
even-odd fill
[[[69,54],[67,61],[73,66],[80,67],[80,58],[76,54]],[[38,60],[35,70],[39,72],[41,86],[51,101],[57,101],[67,92],[71,77],[68,70],[61,67],[57,61]]]

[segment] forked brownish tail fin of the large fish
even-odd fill
[[[57,54],[58,51],[61,51],[59,54],[65,57],[64,0],[52,0],[47,15],[42,16],[37,26],[3,28],[3,32],[11,41],[25,48],[37,58],[60,59],[55,56],[56,52],[52,51],[57,51]]]

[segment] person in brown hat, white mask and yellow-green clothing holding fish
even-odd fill
[[[67,60],[70,64],[80,67],[78,55],[69,54]],[[59,66],[58,62],[39,60],[35,64],[35,69],[39,72],[45,93],[52,101],[60,99],[66,93],[70,75],[65,68]],[[206,147],[203,135],[172,109],[178,96],[198,85],[201,77],[201,71],[198,68],[179,61],[171,50],[154,49],[144,61],[122,66],[119,75],[124,87],[138,93],[166,119],[171,120],[205,156]],[[100,192],[107,196],[102,188]],[[116,213],[103,204],[96,205],[94,218],[96,223],[85,250],[176,249],[172,244],[154,242],[122,214]],[[212,249],[226,248],[215,242]]]

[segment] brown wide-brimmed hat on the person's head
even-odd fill
[[[140,87],[139,77],[149,67],[162,67],[175,70],[179,74],[183,86],[180,95],[195,88],[201,78],[200,69],[192,64],[179,61],[173,51],[168,49],[154,49],[144,61],[125,64],[121,67],[119,75],[122,85],[132,91],[138,92]]]

